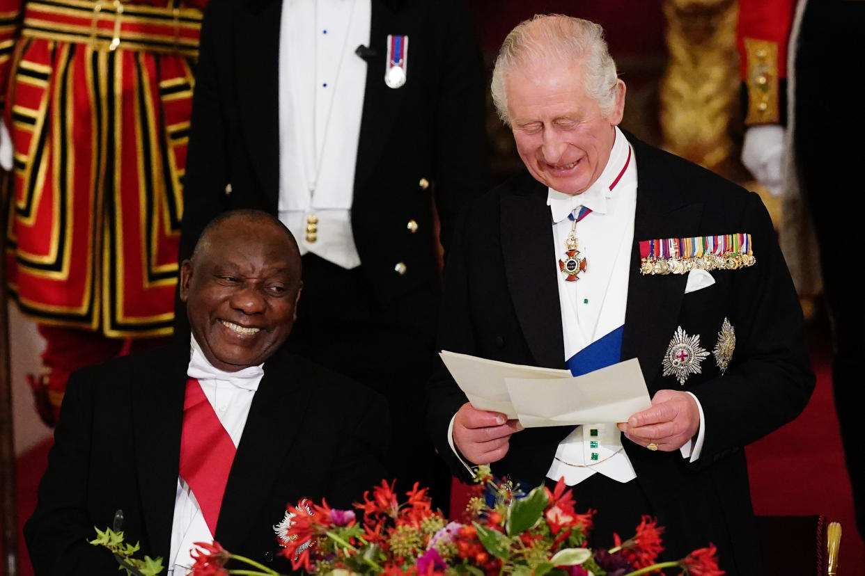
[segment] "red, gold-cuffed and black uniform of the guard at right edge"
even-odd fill
[[[779,239],[799,293],[817,294],[823,286],[832,320],[836,413],[856,527],[865,537],[865,432],[859,423],[865,302],[850,282],[846,249],[865,212],[856,169],[865,155],[865,110],[860,92],[827,88],[860,75],[862,22],[865,0],[740,0],[737,35],[746,124],[785,126]]]

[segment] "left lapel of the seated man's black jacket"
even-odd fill
[[[189,344],[172,345],[167,361],[133,373],[132,430],[144,527],[151,554],[168,558],[174,517]]]

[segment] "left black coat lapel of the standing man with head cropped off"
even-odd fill
[[[279,0],[238,3],[237,93],[243,138],[265,193],[279,195]],[[226,63],[226,65],[228,65]]]

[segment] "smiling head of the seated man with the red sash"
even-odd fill
[[[220,370],[261,364],[292,332],[297,248],[276,223],[246,216],[221,222],[201,244],[180,277],[195,340]]]

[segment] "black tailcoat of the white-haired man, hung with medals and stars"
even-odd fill
[[[728,573],[753,573],[759,562],[743,447],[793,419],[811,395],[814,377],[804,350],[801,309],[772,222],[756,194],[628,137],[637,161],[638,191],[622,358],[639,359],[650,395],[664,388],[693,392],[702,404],[706,435],[693,464],[678,451],[653,453],[623,437],[625,451],[652,513],[667,527],[668,557],[682,557],[712,541]],[[525,173],[460,218],[445,266],[440,349],[565,367],[557,247],[546,200],[547,187]],[[639,272],[640,240],[735,232],[752,235],[756,263],[712,271],[715,283],[708,288],[684,294],[686,275]],[[675,377],[663,377],[661,361],[677,326],[699,334],[702,347],[711,352],[725,318],[736,336],[726,374],[721,375],[710,355],[702,362],[702,373],[690,376],[684,386]],[[452,472],[465,476],[446,433],[466,400],[443,365],[429,394],[433,440]],[[514,434],[493,472],[541,484],[556,446],[570,429]]]

